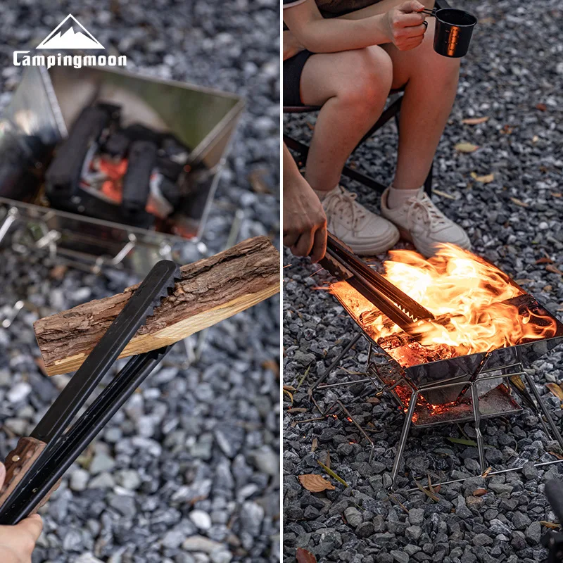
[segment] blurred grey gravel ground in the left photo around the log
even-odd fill
[[[126,54],[128,70],[248,99],[204,240],[222,250],[236,208],[240,240],[277,233],[279,42],[268,31],[279,27],[277,2],[2,2],[1,106],[20,78],[12,51],[36,46],[68,13]],[[270,194],[251,189],[255,170]],[[134,280],[71,270],[61,279],[43,255],[6,248],[2,257],[0,310],[26,300],[0,328],[4,458],[68,380],[40,372],[32,322]],[[279,299],[214,327],[201,360],[185,359],[178,344],[70,469],[46,506],[34,562],[279,559]]]

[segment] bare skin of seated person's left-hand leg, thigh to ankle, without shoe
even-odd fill
[[[311,56],[301,75],[301,101],[322,106],[305,169],[315,191],[339,183],[353,148],[377,120],[391,88],[391,59],[381,47]]]

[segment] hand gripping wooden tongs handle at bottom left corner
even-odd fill
[[[0,463],[0,488],[5,478],[6,467]],[[15,526],[0,526],[0,561],[31,563],[31,554],[42,530],[43,521],[39,514],[33,514]]]

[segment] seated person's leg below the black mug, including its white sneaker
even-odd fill
[[[399,121],[395,177],[381,196],[381,215],[392,221],[425,256],[441,243],[471,246],[460,225],[448,219],[424,193],[438,141],[453,106],[460,61],[434,51],[434,18],[424,41],[411,51],[385,49],[393,61],[393,87],[405,86]]]

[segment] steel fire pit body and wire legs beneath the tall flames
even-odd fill
[[[350,340],[346,348],[332,362],[329,368],[315,381],[309,391],[335,388],[352,384],[369,384],[376,391],[376,396],[391,394],[400,410],[405,412],[405,422],[401,432],[397,453],[393,463],[391,479],[394,485],[400,462],[403,457],[408,434],[412,425],[418,427],[436,426],[473,422],[476,431],[476,443],[479,450],[481,474],[486,472],[483,438],[480,422],[484,418],[514,415],[523,407],[536,413],[545,433],[555,439],[563,449],[563,438],[552,419],[550,412],[541,400],[540,394],[531,376],[524,370],[525,365],[547,354],[563,342],[563,323],[559,322],[548,310],[543,308],[533,297],[521,296],[526,305],[540,315],[555,322],[555,334],[550,338],[520,343],[517,346],[498,348],[488,353],[474,353],[444,360],[426,362],[409,367],[401,365],[384,350],[365,327],[358,322],[345,301],[336,296],[343,308],[358,325],[360,331]],[[329,374],[341,360],[350,353],[355,343],[364,338],[369,345],[365,367],[365,379],[341,381],[337,384],[324,384]],[[519,400],[516,400],[518,398]],[[335,406],[346,413],[349,422],[355,424],[362,436],[374,443],[350,414],[341,400],[336,400],[328,410],[327,416]],[[370,457],[371,461],[371,457]],[[554,460],[557,463],[562,460]],[[539,465],[544,465],[538,464]],[[517,470],[514,468],[510,470]],[[499,473],[505,472],[502,470]],[[488,472],[493,475],[496,472]],[[392,486],[393,486],[392,485]]]

